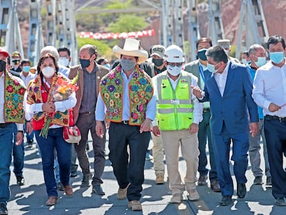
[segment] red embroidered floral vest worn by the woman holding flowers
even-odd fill
[[[48,93],[47,102],[50,102],[51,100],[51,97],[52,97],[51,92],[53,91],[53,87],[55,87],[55,83],[57,82],[58,78],[61,78],[61,77],[57,77],[57,76],[53,77],[53,82],[50,86],[50,91]],[[44,92],[41,92],[41,76],[38,75],[28,87],[27,103],[28,104],[43,103],[44,101],[43,101],[42,93]],[[48,117],[49,116],[44,114],[43,112],[39,112],[39,113],[36,113],[32,119],[35,121],[44,119],[44,122],[46,122]],[[68,110],[64,112],[61,112],[61,111],[55,112],[55,117],[53,118],[51,124],[58,124],[64,127],[68,127],[68,124],[69,124]]]

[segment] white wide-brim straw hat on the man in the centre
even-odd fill
[[[148,59],[148,52],[144,49],[140,49],[140,41],[133,38],[126,38],[123,48],[114,46],[113,53],[119,59],[121,55],[138,57],[138,64],[141,64]]]

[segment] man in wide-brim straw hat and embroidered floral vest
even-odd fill
[[[140,41],[127,38],[124,48],[113,47],[120,64],[102,77],[95,110],[96,133],[104,136],[104,119],[109,127],[109,158],[117,178],[118,199],[128,198],[128,207],[141,211],[145,153],[150,140],[150,125],[155,118],[152,80],[138,64],[148,58]],[[127,153],[127,145],[130,156]]]

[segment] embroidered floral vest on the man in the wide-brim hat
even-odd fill
[[[122,122],[123,78],[121,66],[102,77],[100,93],[106,105],[106,120]],[[153,96],[151,77],[137,66],[129,82],[129,124],[140,126],[146,119],[146,106]]]

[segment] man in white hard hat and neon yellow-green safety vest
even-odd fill
[[[157,100],[157,120],[153,121],[154,135],[162,135],[172,191],[170,203],[181,203],[184,185],[178,169],[178,150],[186,161],[184,178],[189,200],[200,198],[196,191],[198,170],[198,124],[202,120],[202,104],[192,95],[191,85],[198,86],[198,78],[182,70],[184,54],[179,46],[171,45],[164,53],[166,71],[153,77]],[[159,124],[156,124],[159,122]]]

